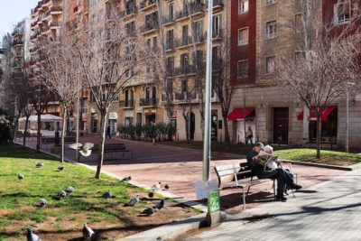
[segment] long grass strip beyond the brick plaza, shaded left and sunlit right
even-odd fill
[[[187,147],[192,149],[203,149],[203,142],[162,142],[160,144],[168,144],[172,146]],[[273,146],[274,153],[279,155],[281,159],[292,160],[299,162],[315,162],[315,163],[324,163],[332,165],[341,165],[349,166],[361,162],[361,155],[354,153],[343,153],[343,152],[334,152],[321,150],[321,158],[316,158],[316,149],[309,148],[292,148],[287,146]],[[218,153],[233,153],[246,155],[252,149],[251,145],[245,144],[220,144],[212,143],[211,144],[212,152]]]

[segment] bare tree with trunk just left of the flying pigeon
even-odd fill
[[[62,106],[61,162],[64,162],[64,137],[69,107],[82,87],[73,42],[74,35],[71,32],[62,32],[59,41],[44,39],[38,45],[41,80]]]

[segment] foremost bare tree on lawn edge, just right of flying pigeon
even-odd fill
[[[116,8],[110,6],[108,9],[111,11]],[[149,56],[142,34],[135,29],[135,23],[123,23],[119,14],[116,11],[109,12],[106,19],[89,23],[88,27],[79,32],[79,41],[75,44],[77,60],[100,112],[97,179],[100,178],[104,161],[109,107],[131,81],[144,78],[146,58]]]

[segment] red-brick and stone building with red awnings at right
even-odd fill
[[[345,1],[342,6],[337,3],[337,0],[323,3],[319,10],[323,16],[320,21],[332,21],[340,25],[349,22],[350,1]],[[276,51],[287,51],[290,56],[300,53],[300,1],[233,0],[231,9],[234,46],[231,52],[231,75],[236,74],[238,83],[242,84],[236,90],[232,112],[228,116],[233,122],[233,141],[244,142],[246,125],[253,128],[255,141],[301,145],[309,139],[312,144],[316,138],[314,116],[310,115],[309,130],[303,130],[303,104],[280,87],[274,75]],[[289,23],[293,23],[294,28],[287,27]],[[361,134],[359,88],[360,84],[351,91],[348,103],[349,141],[350,147],[355,148],[358,147]],[[322,143],[344,146],[346,106],[345,97],[340,97],[322,116]],[[305,133],[308,136],[304,136]]]

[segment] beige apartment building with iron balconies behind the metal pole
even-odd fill
[[[213,1],[212,47],[217,62],[221,43],[229,37],[229,1]],[[208,1],[162,1],[162,30],[171,91],[163,91],[161,104],[171,101],[172,122],[176,125],[177,138],[203,140],[199,97],[204,95],[206,82]],[[213,66],[217,74],[217,66]],[[197,81],[200,81],[197,88]],[[165,97],[172,92],[167,100]],[[224,140],[223,120],[218,97],[212,93],[211,138]],[[204,104],[202,104],[204,105]],[[168,120],[164,111],[164,121]]]

